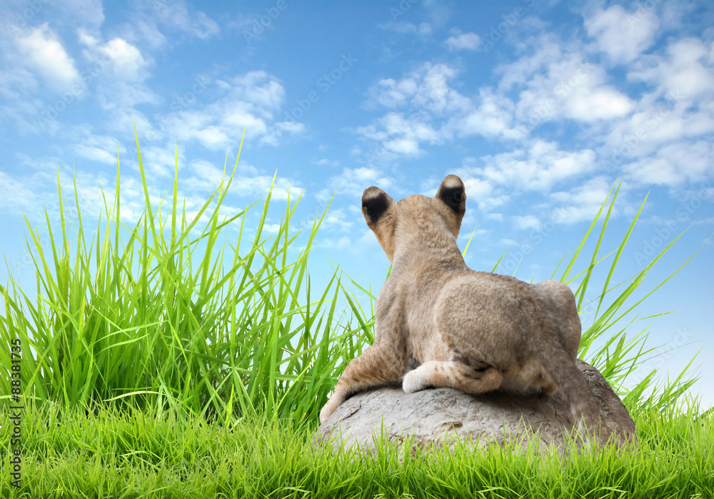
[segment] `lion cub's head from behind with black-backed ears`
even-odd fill
[[[433,198],[416,195],[396,202],[374,186],[362,194],[364,219],[389,261],[400,244],[418,243],[420,238],[456,240],[465,212],[466,192],[456,175],[446,176]]]

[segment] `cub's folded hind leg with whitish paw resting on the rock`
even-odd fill
[[[503,374],[492,366],[476,371],[459,361],[428,361],[407,373],[402,387],[406,393],[450,387],[478,395],[496,390],[502,382]]]

